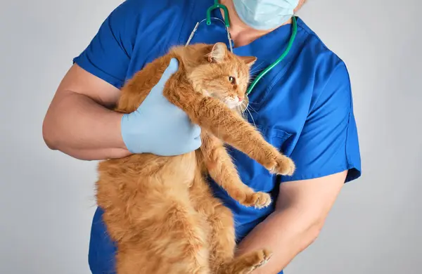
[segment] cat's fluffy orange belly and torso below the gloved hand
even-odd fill
[[[207,265],[207,214],[198,213],[196,204],[219,202],[202,178],[195,152],[113,159],[101,162],[98,171],[97,202],[117,242],[117,273],[135,265],[141,273],[157,274],[179,273],[177,266],[183,273],[186,263]],[[192,197],[193,184],[201,197]]]

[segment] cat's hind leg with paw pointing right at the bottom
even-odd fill
[[[212,196],[210,187],[200,175],[196,177],[191,187],[191,200],[209,226],[211,273],[247,274],[269,260],[271,252],[268,250],[258,250],[234,258],[236,236],[233,214]]]

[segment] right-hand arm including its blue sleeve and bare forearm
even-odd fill
[[[276,211],[240,244],[241,252],[261,244],[274,248],[274,260],[255,273],[279,273],[315,240],[341,188],[359,172],[356,134],[349,75],[340,64],[290,154],[296,171],[280,178]]]

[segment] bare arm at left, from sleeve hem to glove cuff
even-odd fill
[[[119,89],[73,65],[58,86],[43,124],[44,141],[77,159],[130,154],[120,134],[122,114],[108,109]]]

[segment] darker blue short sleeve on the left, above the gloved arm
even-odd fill
[[[136,1],[124,1],[106,18],[96,36],[73,59],[79,67],[120,89],[136,39]]]

